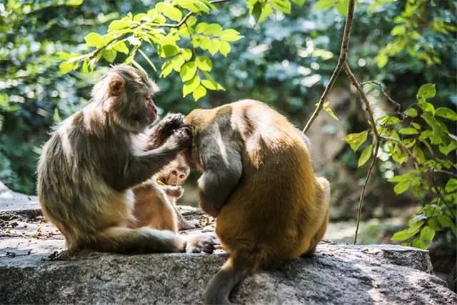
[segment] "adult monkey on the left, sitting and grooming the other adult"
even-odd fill
[[[38,194],[44,214],[69,249],[119,253],[212,251],[211,236],[131,229],[131,188],[189,146],[183,116],[169,116],[153,134],[163,144],[143,151],[141,134],[156,119],[156,85],[144,72],[115,66],[92,90],[91,103],[64,120],[44,145]]]

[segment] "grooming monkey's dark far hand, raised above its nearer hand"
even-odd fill
[[[159,124],[154,126],[151,130],[146,150],[156,149],[162,146],[162,144],[164,144],[166,139],[168,139],[174,131],[184,126],[184,118],[185,116],[183,114],[167,114],[164,119],[162,119]]]

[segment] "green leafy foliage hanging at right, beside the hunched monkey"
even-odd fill
[[[435,110],[428,100],[435,96],[435,84],[424,84],[417,91],[417,102],[406,111],[396,116],[385,114],[376,120],[382,153],[388,156],[383,161],[392,159],[401,171],[408,171],[388,179],[395,184],[393,191],[397,195],[411,191],[422,206],[411,216],[409,228],[394,234],[392,240],[406,241],[403,244],[421,249],[428,248],[436,231],[457,234],[457,136],[447,126],[455,127],[457,116],[446,107]],[[345,141],[356,151],[367,134],[372,136],[371,129],[348,134]],[[370,159],[372,149],[370,145],[363,150],[359,167]],[[412,169],[406,161],[411,161]]]

